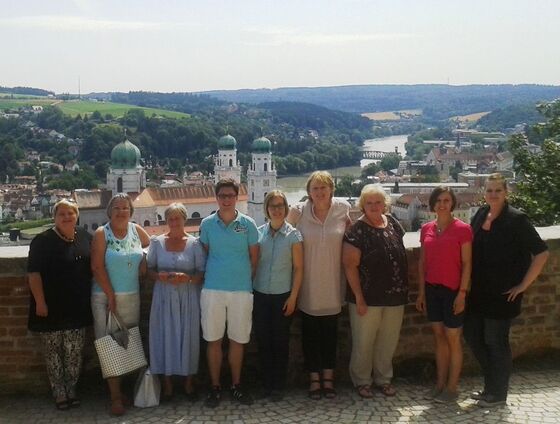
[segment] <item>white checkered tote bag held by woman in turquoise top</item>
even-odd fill
[[[117,322],[112,331],[111,320]],[[118,377],[148,365],[138,327],[127,329],[117,314],[109,312],[107,335],[95,341],[103,378]]]

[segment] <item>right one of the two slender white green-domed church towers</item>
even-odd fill
[[[247,170],[247,214],[257,225],[265,223],[264,198],[270,190],[276,188],[276,169],[272,163],[271,147],[272,144],[266,137],[254,140],[251,166]]]

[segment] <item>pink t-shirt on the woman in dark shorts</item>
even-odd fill
[[[471,226],[457,218],[439,235],[435,221],[422,225],[425,281],[457,290],[461,285],[461,246],[471,243],[472,238]]]

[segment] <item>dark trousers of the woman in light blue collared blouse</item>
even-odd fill
[[[290,293],[253,293],[253,327],[257,336],[259,361],[265,390],[286,387],[292,317],[282,308]]]

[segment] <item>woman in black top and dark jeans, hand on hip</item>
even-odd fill
[[[511,321],[521,312],[523,292],[548,258],[547,246],[527,216],[507,200],[507,184],[492,174],[471,221],[473,264],[464,335],[484,374],[484,389],[471,397],[483,407],[505,404],[511,374]]]

